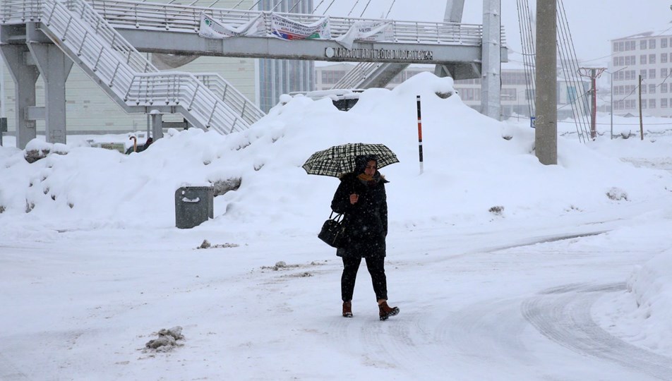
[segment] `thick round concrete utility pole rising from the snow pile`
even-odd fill
[[[558,164],[556,0],[536,2],[536,109],[534,147],[541,164]]]

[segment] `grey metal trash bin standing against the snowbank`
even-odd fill
[[[183,186],[175,191],[175,226],[191,229],[213,217],[212,186]]]

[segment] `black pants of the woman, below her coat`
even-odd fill
[[[388,300],[388,281],[385,278],[385,257],[383,255],[373,255],[371,258],[365,258],[366,268],[371,274],[373,283],[373,292],[376,293],[376,301],[379,299]],[[361,258],[343,257],[343,274],[341,276],[341,298],[343,301],[352,301],[354,291],[354,282],[357,278],[357,270]]]

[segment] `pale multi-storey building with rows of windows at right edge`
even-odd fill
[[[611,40],[613,113],[672,116],[672,33],[644,32]]]

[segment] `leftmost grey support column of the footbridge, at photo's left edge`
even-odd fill
[[[35,119],[28,119],[28,109],[35,107],[35,83],[40,71],[32,63],[32,56],[25,45],[0,44],[0,52],[14,80],[16,147],[23,150],[37,136]]]

